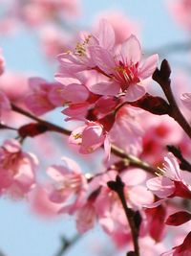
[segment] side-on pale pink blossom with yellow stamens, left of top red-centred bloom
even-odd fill
[[[56,77],[74,77],[74,73],[96,68],[90,47],[100,46],[112,50],[115,45],[115,33],[112,26],[101,20],[98,34],[83,32],[78,35],[74,49],[58,56],[60,67]]]

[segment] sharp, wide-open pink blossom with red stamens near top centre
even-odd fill
[[[141,60],[138,38],[131,35],[112,53],[100,46],[90,47],[96,66],[108,81],[93,84],[89,89],[100,95],[123,93],[125,100],[134,102],[144,95],[142,81],[150,78],[157,67],[158,55]]]

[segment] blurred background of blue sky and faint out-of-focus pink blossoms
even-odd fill
[[[181,80],[189,86],[191,26],[177,11],[176,4],[181,1],[60,0],[57,2],[63,5],[51,10],[46,2],[53,1],[0,0],[0,48],[6,60],[0,87],[14,84],[22,98],[27,78],[38,76],[53,81],[56,55],[70,48],[78,31],[93,31],[100,17],[108,18],[121,36],[136,34],[145,56],[158,53],[160,60],[167,58],[172,65],[173,81]],[[191,9],[188,12],[191,16]],[[65,126],[61,113],[48,118]],[[70,154],[66,148],[55,151],[60,156]],[[79,161],[82,169],[88,168],[84,160]],[[92,163],[93,167],[95,164]],[[43,218],[31,208],[24,199],[0,198],[2,255],[64,255],[59,252],[63,236],[71,240],[76,234],[74,218]],[[113,254],[117,255],[114,244],[99,227],[77,239],[65,252],[68,256]]]

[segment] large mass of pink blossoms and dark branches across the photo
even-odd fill
[[[76,11],[75,1],[27,1],[22,8],[21,2],[14,2],[15,16],[31,26]],[[92,32],[75,36],[57,57],[55,81],[11,78],[0,52],[0,128],[16,133],[0,147],[0,195],[27,198],[44,217],[73,215],[80,234],[98,223],[127,255],[191,255],[191,213],[184,207],[191,199],[191,93],[174,97],[167,61],[159,69],[158,54],[144,57],[137,35],[118,32],[101,19]],[[150,93],[154,81],[165,98]],[[62,127],[41,119],[60,109]],[[41,180],[41,155],[56,157],[51,132],[68,135],[63,145],[87,162],[96,157],[98,167],[85,173],[64,155],[60,164],[47,164]],[[36,155],[24,149],[29,137]],[[183,226],[170,250],[169,225]]]

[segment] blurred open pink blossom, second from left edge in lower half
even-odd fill
[[[49,167],[47,174],[54,181],[50,199],[60,203],[60,213],[73,214],[86,201],[87,181],[74,160],[63,157],[64,165]]]

